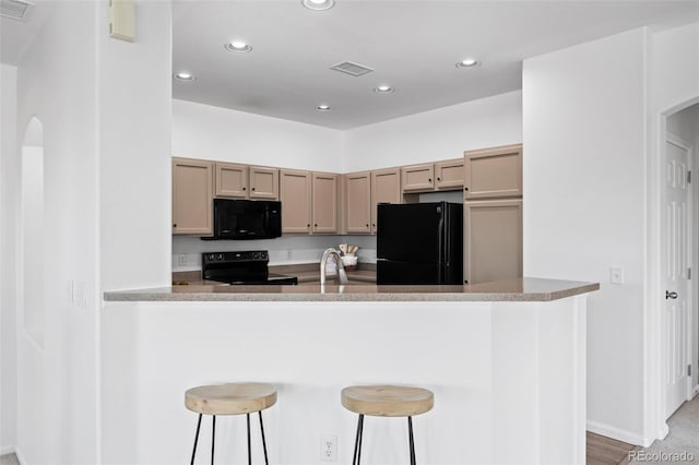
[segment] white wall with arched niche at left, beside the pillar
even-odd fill
[[[44,347],[17,325],[16,449],[23,463],[94,463],[99,307],[96,48],[90,38],[97,31],[96,8],[61,2],[48,16],[17,67],[17,132],[24,134],[33,117],[44,128],[44,220],[50,234],[44,236]],[[19,171],[2,176],[19,178]],[[80,308],[69,298],[71,282],[81,285]]]

